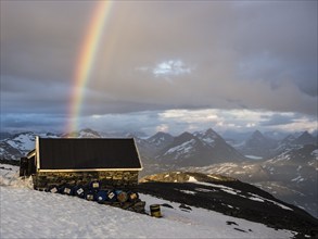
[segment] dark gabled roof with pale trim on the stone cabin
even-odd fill
[[[141,169],[131,139],[38,138],[39,169]]]

